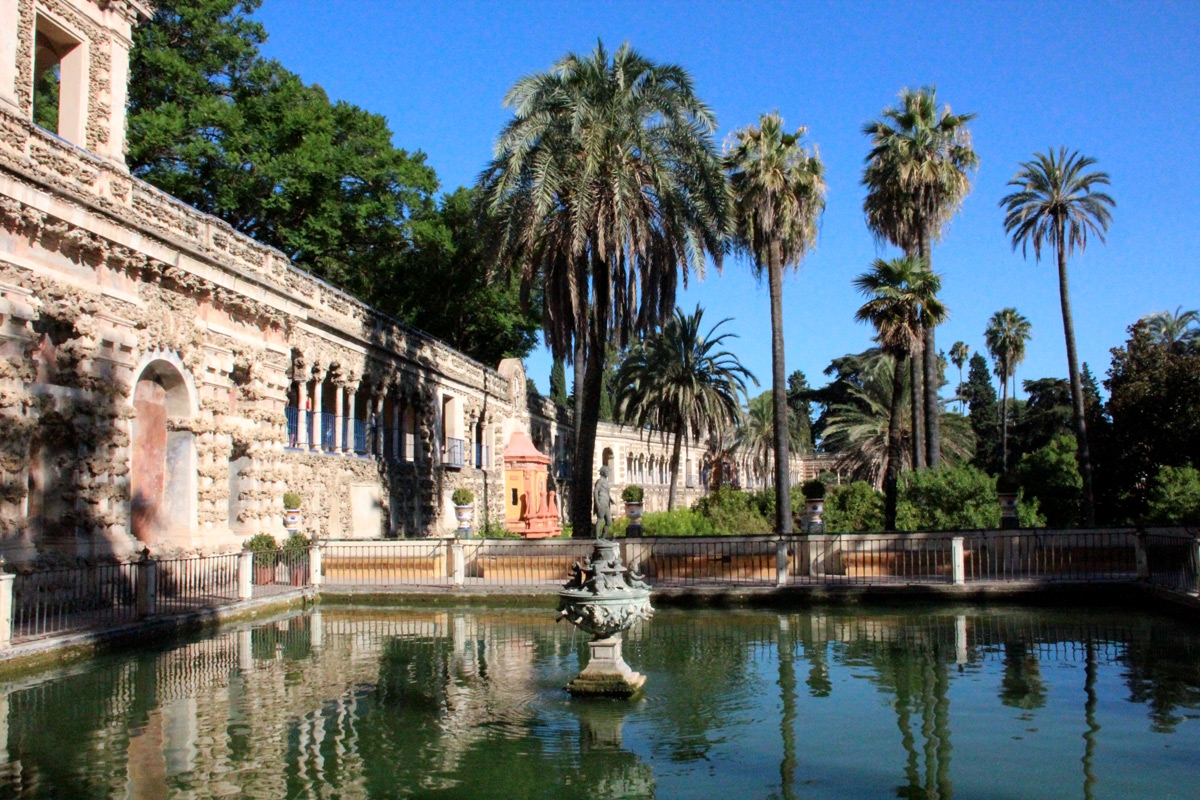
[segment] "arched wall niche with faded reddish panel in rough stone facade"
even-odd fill
[[[143,545],[191,547],[197,529],[196,384],[179,356],[146,354],[134,371],[130,533]]]

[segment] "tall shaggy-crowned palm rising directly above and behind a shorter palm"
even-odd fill
[[[971,191],[967,173],[979,164],[967,131],[967,122],[976,115],[952,114],[949,106],[938,108],[937,89],[928,86],[902,90],[900,102],[884,109],[881,118],[863,126],[863,133],[871,137],[863,170],[866,224],[878,239],[902,248],[905,255],[919,255],[931,270],[932,241],[941,237]],[[923,333],[924,457],[930,467],[937,467],[937,342],[934,327]]]

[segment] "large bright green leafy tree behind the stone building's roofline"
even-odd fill
[[[258,5],[164,0],[134,30],[130,169],[374,302],[437,176],[392,146],[383,116],[264,59]]]

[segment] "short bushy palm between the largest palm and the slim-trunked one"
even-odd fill
[[[691,314],[677,308],[660,332],[630,349],[617,369],[617,419],[674,439],[667,511],[676,504],[684,438],[690,433],[698,441],[702,432],[736,422],[745,380],[758,383],[736,355],[718,349],[725,339],[737,338],[736,333],[716,335],[730,320],[701,333],[703,315],[700,306]]]

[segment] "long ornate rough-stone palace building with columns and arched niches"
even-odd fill
[[[283,533],[286,491],[320,537],[438,535],[460,486],[499,522],[517,429],[564,486],[570,427],[520,361],[475,362],[130,175],[150,12],[0,0],[0,555],[232,548]],[[34,124],[47,71],[58,131]],[[605,426],[596,453],[665,506],[662,443]]]

